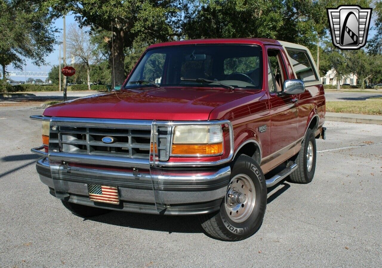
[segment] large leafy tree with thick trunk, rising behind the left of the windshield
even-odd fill
[[[180,21],[179,0],[39,0],[52,16],[59,17],[69,11],[76,14],[80,26],[92,31],[109,32],[106,39],[112,80],[121,84],[125,80],[125,49],[132,48],[134,40],[166,41],[176,36]],[[110,38],[113,36],[113,38]]]

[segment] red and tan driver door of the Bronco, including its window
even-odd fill
[[[268,90],[270,104],[271,154],[274,158],[295,146],[298,128],[296,95],[280,94],[284,80],[289,79],[279,47],[267,47]],[[284,158],[285,157],[281,157]]]

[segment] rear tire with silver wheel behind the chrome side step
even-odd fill
[[[301,144],[301,149],[295,156],[298,167],[289,175],[290,181],[299,184],[311,182],[316,170],[316,156],[316,138],[309,128]]]

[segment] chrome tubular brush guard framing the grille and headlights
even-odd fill
[[[95,165],[108,165],[116,167],[138,167],[143,169],[149,169],[149,166],[162,166],[162,167],[206,167],[206,166],[217,166],[230,162],[234,156],[234,143],[233,143],[233,126],[229,120],[220,121],[163,121],[163,120],[125,120],[125,119],[86,119],[86,118],[70,118],[70,117],[45,117],[42,115],[33,115],[31,119],[34,120],[50,120],[50,136],[49,136],[49,153],[40,151],[44,146],[39,146],[32,148],[32,153],[40,154],[42,156],[48,156],[52,161],[64,161],[64,162],[76,162],[83,164],[95,164]],[[54,122],[55,124],[52,124]],[[120,124],[118,125],[117,124]],[[150,129],[157,127],[168,127],[167,132],[167,157],[170,151],[170,143],[172,138],[172,129],[177,125],[228,125],[229,139],[230,139],[230,151],[229,155],[225,159],[211,162],[168,162],[156,159],[152,160],[139,159],[139,158],[129,158],[129,157],[118,157],[110,155],[98,155],[98,154],[76,154],[76,153],[63,153],[60,152],[58,131],[52,130],[53,126],[65,126],[70,123],[70,127],[77,125],[78,127],[87,126],[89,128],[97,127],[101,124],[103,128],[114,127],[114,128],[126,128],[126,126],[131,127],[142,127],[142,129]],[[143,126],[142,126],[143,125]],[[149,127],[147,127],[149,126]],[[226,128],[227,129],[227,128]],[[152,138],[152,137],[151,137]],[[154,143],[157,143],[157,139],[153,139]],[[155,156],[155,153],[154,153]]]

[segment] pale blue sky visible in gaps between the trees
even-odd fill
[[[66,29],[68,29],[68,26],[71,23],[78,24],[75,21],[75,19],[74,19],[74,15],[68,15],[68,16],[66,16],[65,19],[66,19]],[[62,18],[57,19],[54,22],[54,26],[57,27],[59,29],[59,31],[60,31],[57,34],[57,40],[60,40],[60,39],[62,40],[63,19]],[[371,30],[372,26],[374,26],[374,18],[371,19],[370,29],[369,29],[369,34],[368,34],[367,40],[370,40],[372,38],[372,36],[374,36],[374,34],[375,34],[375,31]],[[61,48],[61,53],[62,53],[62,48]],[[54,46],[54,51],[50,55],[48,55],[48,57],[45,59],[45,61],[47,62],[47,65],[38,67],[38,66],[32,64],[31,60],[27,59],[26,60],[26,71],[44,71],[44,72],[49,72],[53,65],[58,65],[58,57],[59,57],[58,55],[59,55],[58,45],[55,45]],[[62,56],[62,54],[61,54],[61,56]],[[69,57],[70,56],[68,55],[68,53],[66,53],[66,62],[67,63],[70,63],[70,58]],[[15,68],[13,68],[12,65],[8,65],[6,67],[6,71],[19,71],[19,70],[15,70]],[[25,71],[25,70],[23,70],[23,71]],[[29,77],[30,76],[27,76],[27,79]],[[25,76],[11,76],[10,78],[12,80],[15,80],[15,81],[25,81]],[[32,78],[34,78],[34,79],[40,78],[41,80],[45,81],[45,77],[37,77],[37,76],[33,77],[32,76]]]

